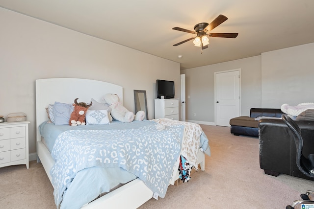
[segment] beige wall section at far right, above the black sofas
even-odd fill
[[[262,53],[262,107],[314,102],[313,90],[314,43]]]

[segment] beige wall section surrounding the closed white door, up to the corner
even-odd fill
[[[255,56],[181,70],[185,74],[186,120],[214,124],[214,73],[235,69],[241,71],[241,114],[249,115],[249,108],[261,107],[261,56]]]

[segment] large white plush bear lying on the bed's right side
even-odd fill
[[[117,94],[107,93],[105,94],[105,101],[111,108],[111,116],[121,122],[129,123],[133,120],[143,120],[145,117],[144,111],[138,111],[136,115],[125,108]]]

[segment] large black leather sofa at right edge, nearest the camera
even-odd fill
[[[296,120],[303,138],[303,157],[314,153],[314,121]],[[283,120],[261,119],[259,121],[260,167],[265,174],[278,176],[280,173],[303,179],[314,178],[304,175],[296,165],[295,142]]]

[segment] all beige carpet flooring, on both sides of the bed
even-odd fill
[[[211,157],[206,170],[188,183],[169,186],[166,197],[140,209],[285,209],[314,182],[288,175],[265,175],[257,138],[233,136],[230,128],[202,125]],[[0,168],[0,208],[54,209],[53,189],[40,163]]]

